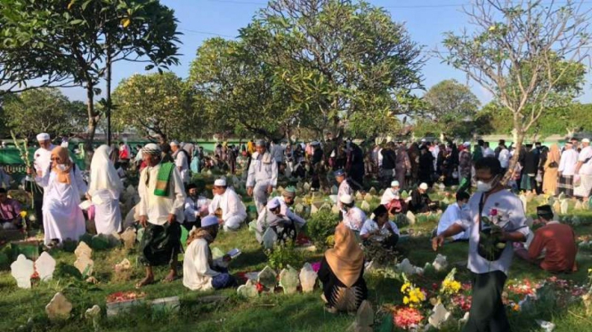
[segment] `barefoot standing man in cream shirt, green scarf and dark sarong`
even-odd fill
[[[140,203],[136,206],[138,221],[144,227],[139,261],[146,267],[146,277],[136,288],[154,282],[152,266],[169,265],[164,281],[177,277],[177,255],[181,250],[181,225],[185,215],[185,189],[179,170],[170,162],[161,162],[160,147],[144,146],[142,156],[147,167],[142,170],[138,186]]]

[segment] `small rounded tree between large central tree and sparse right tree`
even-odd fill
[[[473,128],[467,125],[479,109],[479,99],[464,84],[456,80],[444,80],[435,84],[424,95],[426,112],[422,120],[431,123],[435,132],[450,137],[470,137]]]

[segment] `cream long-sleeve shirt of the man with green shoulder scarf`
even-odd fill
[[[185,202],[185,189],[182,184],[181,175],[176,167],[168,181],[168,197],[157,196],[154,194],[156,188],[158,170],[160,164],[154,167],[147,167],[142,170],[140,175],[140,184],[138,194],[140,203],[137,205],[138,216],[147,216],[148,222],[154,225],[165,225],[169,214],[176,216],[176,221],[182,223],[185,220],[183,214],[183,205]],[[148,178],[148,184],[146,179]]]

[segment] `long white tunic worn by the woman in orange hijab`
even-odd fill
[[[82,214],[80,196],[86,193],[86,184],[80,170],[70,170],[71,184],[58,182],[57,173],[49,171],[36,177],[36,182],[45,190],[43,224],[45,244],[53,239],[78,241],[86,233],[85,217]]]

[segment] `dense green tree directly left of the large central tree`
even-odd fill
[[[289,137],[295,119],[289,96],[258,56],[242,41],[212,38],[199,47],[189,82],[197,91],[196,108],[208,133]]]

